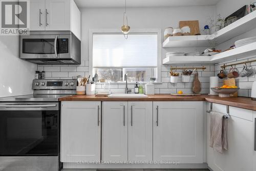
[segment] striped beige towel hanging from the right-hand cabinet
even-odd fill
[[[210,113],[210,147],[215,151],[223,153],[227,150],[227,119],[223,113]]]

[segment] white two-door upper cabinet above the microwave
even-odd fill
[[[74,0],[31,0],[31,31],[72,31],[81,39],[81,13]]]

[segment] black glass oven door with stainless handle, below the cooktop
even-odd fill
[[[59,103],[0,103],[0,156],[57,156]]]

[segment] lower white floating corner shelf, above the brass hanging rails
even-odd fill
[[[212,64],[256,54],[256,42],[212,56],[166,56],[163,65]]]

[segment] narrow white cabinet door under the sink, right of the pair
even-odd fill
[[[128,160],[153,160],[153,102],[128,102]]]

